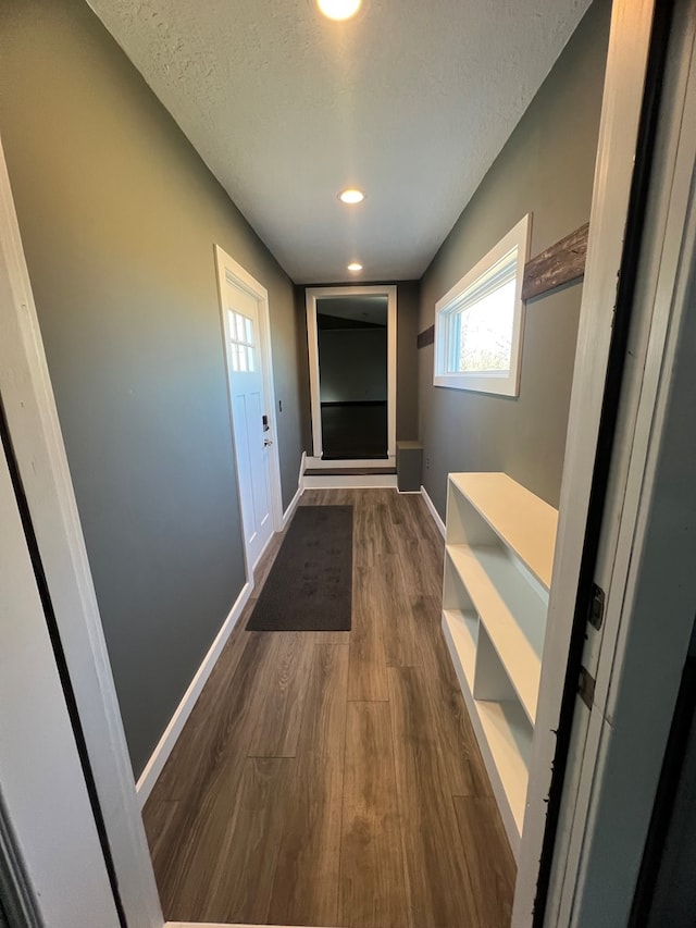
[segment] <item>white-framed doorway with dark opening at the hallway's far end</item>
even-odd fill
[[[396,448],[396,287],[307,290],[312,445],[331,461]]]

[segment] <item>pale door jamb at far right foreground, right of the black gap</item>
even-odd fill
[[[618,429],[625,473],[605,515],[596,686],[549,924],[627,924],[696,611],[694,0],[673,16]]]

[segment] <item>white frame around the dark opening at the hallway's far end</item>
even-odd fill
[[[326,286],[307,287],[304,300],[307,307],[307,348],[309,352],[309,387],[312,412],[312,450],[315,458],[323,454],[322,404],[319,379],[319,326],[316,323],[316,300],[322,297],[347,296],[386,296],[387,298],[387,457],[396,455],[396,366],[397,366],[397,287],[384,286]]]

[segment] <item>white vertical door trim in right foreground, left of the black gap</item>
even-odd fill
[[[534,729],[512,926],[531,924],[546,827],[564,673],[589,511],[617,284],[652,22],[654,0],[614,0],[587,260],[573,373],[559,525]]]

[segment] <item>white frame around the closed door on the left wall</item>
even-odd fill
[[[239,516],[243,524],[244,535],[244,559],[247,572],[247,582],[253,586],[253,568],[258,564],[257,557],[254,564],[251,562],[249,550],[247,548],[247,532],[244,528],[244,510],[241,499],[241,487],[239,483],[239,461],[237,458],[237,446],[235,442],[234,428],[234,404],[231,392],[231,374],[232,374],[232,357],[229,351],[229,323],[225,306],[225,286],[231,284],[244,290],[250,297],[256,299],[259,308],[259,349],[261,355],[261,364],[263,368],[263,394],[266,404],[266,416],[269,417],[269,436],[273,443],[270,447],[269,465],[270,465],[270,484],[271,484],[271,517],[273,520],[273,532],[279,532],[283,528],[283,496],[281,490],[281,459],[278,454],[277,441],[277,422],[275,416],[275,389],[273,384],[273,355],[271,346],[271,319],[269,311],[269,292],[262,286],[256,277],[253,277],[245,268],[235,261],[227,252],[220,247],[214,246],[215,251],[215,269],[217,274],[217,300],[220,305],[220,321],[222,326],[223,350],[225,357],[225,383],[227,389],[227,403],[229,411],[229,429],[232,432],[232,444],[235,456],[235,482],[237,484],[237,500],[239,503]],[[271,535],[273,537],[273,535]],[[269,540],[270,541],[270,540]],[[268,543],[266,543],[268,544]]]

